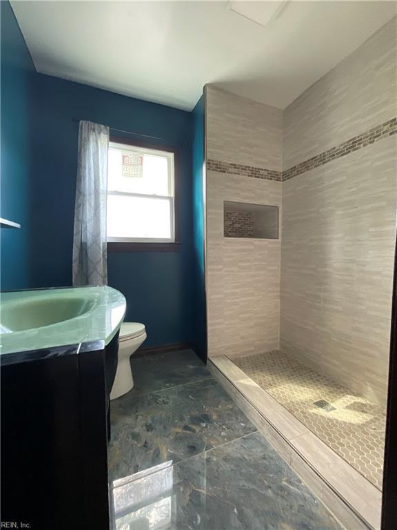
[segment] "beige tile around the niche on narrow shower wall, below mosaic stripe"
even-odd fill
[[[207,172],[210,356],[250,355],[278,348],[280,239],[223,237],[223,202],[254,202],[281,208],[281,186],[281,182]]]

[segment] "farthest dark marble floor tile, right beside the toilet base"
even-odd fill
[[[210,377],[205,364],[192,350],[175,351],[131,357],[134,388],[132,393],[170,389],[179,384],[199,381]]]

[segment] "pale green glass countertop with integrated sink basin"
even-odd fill
[[[108,286],[0,293],[0,355],[108,344],[124,315],[125,297]]]

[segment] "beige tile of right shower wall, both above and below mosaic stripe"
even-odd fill
[[[396,19],[284,112],[287,169],[397,115]],[[281,349],[385,403],[396,136],[283,182]]]

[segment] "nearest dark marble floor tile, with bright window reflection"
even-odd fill
[[[117,530],[341,530],[261,433],[119,481]]]

